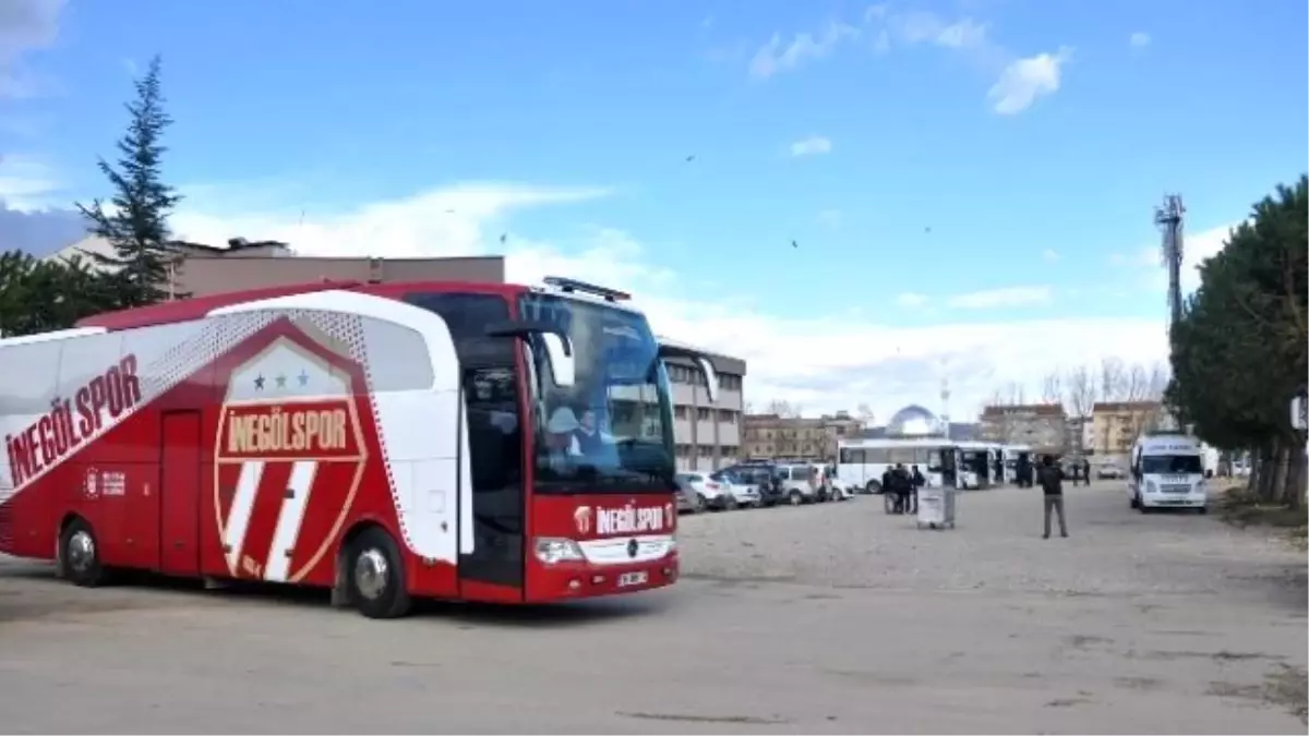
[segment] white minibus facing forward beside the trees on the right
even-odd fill
[[[1132,445],[1127,492],[1132,508],[1195,508],[1208,512],[1206,448],[1181,433],[1141,435]]]

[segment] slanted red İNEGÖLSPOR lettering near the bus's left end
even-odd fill
[[[72,397],[55,397],[48,413],[25,431],[4,439],[13,486],[17,488],[47,468],[54,468],[140,403],[141,382],[136,377],[135,355],[124,356],[86,381]]]

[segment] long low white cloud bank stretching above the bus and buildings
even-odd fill
[[[797,317],[751,289],[689,289],[686,276],[658,262],[631,234],[590,228],[577,241],[558,241],[511,230],[504,220],[528,206],[597,196],[602,190],[522,185],[461,185],[395,202],[361,204],[330,215],[280,210],[241,215],[192,198],[174,219],[179,236],[225,242],[233,236],[276,237],[304,254],[469,255],[503,251],[508,275],[533,282],[546,274],[571,275],[630,291],[661,334],[747,360],[747,401],[783,398],[806,411],[868,403],[881,416],[910,402],[935,406],[942,365],[949,365],[957,418],[967,416],[1003,384],[1031,392],[1059,365],[1097,363],[1114,355],[1158,360],[1166,355],[1164,321],[1045,320],[1025,322],[897,326],[898,316],[869,303],[864,312]],[[448,210],[456,210],[453,213]],[[987,303],[1038,304],[1037,288],[966,295],[963,306]],[[997,296],[999,295],[999,296]],[[902,295],[898,304],[923,305]],[[1041,335],[1041,339],[1030,339]]]

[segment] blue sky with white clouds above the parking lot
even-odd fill
[[[1212,251],[1309,147],[1288,86],[1309,7],[1285,0],[17,5],[10,207],[103,194],[94,158],[158,52],[181,234],[446,254],[508,233],[516,272],[618,279],[661,329],[750,358],[758,401],[806,407],[885,414],[935,394],[942,358],[970,405],[1158,359],[1151,207],[1181,191]],[[1073,337],[991,344],[1034,330]]]

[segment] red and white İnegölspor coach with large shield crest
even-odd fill
[[[0,340],[0,553],[528,604],[678,575],[670,390],[627,295],[322,283]]]

